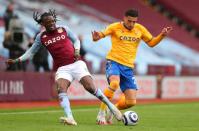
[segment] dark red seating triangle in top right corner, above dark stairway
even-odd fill
[[[157,2],[199,30],[198,0],[157,0]]]

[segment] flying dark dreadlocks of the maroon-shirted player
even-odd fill
[[[57,14],[55,10],[49,10],[48,12],[44,12],[43,14],[40,14],[39,12],[35,11],[33,13],[33,19],[38,23],[41,24],[43,22],[43,18],[46,16],[53,16],[55,22],[57,21]]]

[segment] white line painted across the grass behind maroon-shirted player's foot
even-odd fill
[[[97,108],[92,109],[73,109],[72,111],[77,112],[87,112],[87,111],[94,111]],[[57,113],[63,112],[63,110],[51,110],[51,111],[26,111],[26,112],[2,112],[0,115],[26,115],[26,114],[43,114],[43,113]]]

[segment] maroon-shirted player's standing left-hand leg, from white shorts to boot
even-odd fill
[[[76,121],[74,120],[70,107],[70,101],[67,96],[67,89],[73,80],[69,70],[70,69],[67,69],[67,66],[61,67],[58,69],[55,76],[60,106],[64,109],[65,113],[64,117],[60,117],[60,121],[68,125],[77,125]]]

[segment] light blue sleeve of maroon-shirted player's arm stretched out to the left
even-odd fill
[[[39,33],[36,36],[33,45],[21,57],[19,57],[20,61],[25,61],[27,59],[32,59],[32,57],[34,56],[34,54],[42,46],[40,36],[41,36],[41,33]]]

